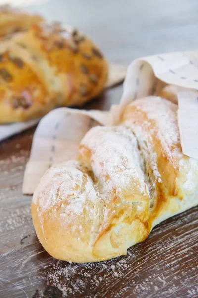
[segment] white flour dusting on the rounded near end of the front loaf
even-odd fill
[[[69,161],[49,169],[43,176],[40,184],[42,191],[36,191],[33,202],[36,204],[40,198],[41,212],[45,212],[57,204],[67,202],[67,211],[80,214],[86,200],[94,202],[96,192],[91,178],[80,171],[78,163]]]

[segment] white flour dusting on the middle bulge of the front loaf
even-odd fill
[[[122,196],[123,188],[131,188],[132,183],[142,195],[147,193],[137,140],[129,129],[92,128],[81,142],[82,160],[88,151],[92,152],[89,165],[99,181],[101,194],[109,196],[115,191]]]

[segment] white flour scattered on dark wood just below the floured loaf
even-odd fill
[[[129,270],[131,264],[129,259],[133,258],[133,255],[128,251],[127,257],[124,259],[116,258],[110,261],[85,263],[85,264],[68,264],[65,267],[65,262],[55,261],[53,268],[50,268],[46,280],[50,286],[56,286],[60,289],[65,297],[69,297],[74,293],[85,294],[87,284],[94,288],[104,283],[112,275],[115,278],[122,278],[126,270]],[[109,263],[115,263],[110,265]],[[80,269],[79,269],[80,268]],[[105,271],[103,276],[94,274],[97,272]]]

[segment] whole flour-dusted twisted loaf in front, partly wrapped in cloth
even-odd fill
[[[53,166],[32,199],[47,252],[71,262],[126,254],[163,220],[198,204],[198,161],[183,155],[177,105],[151,96],[117,126],[94,127],[79,158]]]

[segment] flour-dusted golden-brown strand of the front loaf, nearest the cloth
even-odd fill
[[[179,163],[186,157],[182,154],[176,111],[176,105],[153,97],[149,104],[147,99],[130,104],[122,118],[123,125],[133,130],[137,137],[146,172],[155,188],[150,221],[159,216],[167,198],[182,199],[184,196]]]

